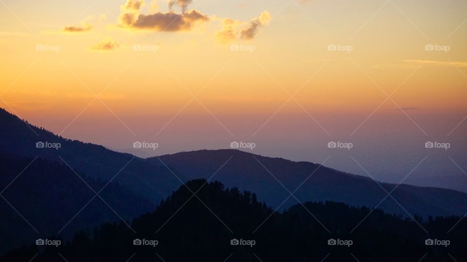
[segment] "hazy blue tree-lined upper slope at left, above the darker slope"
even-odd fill
[[[69,140],[0,109],[0,153],[8,156],[41,157],[66,163],[84,174],[124,185],[128,190],[158,204],[181,182],[161,163],[109,150],[101,145]],[[28,126],[29,125],[29,126]],[[60,147],[37,148],[36,143],[59,143]]]

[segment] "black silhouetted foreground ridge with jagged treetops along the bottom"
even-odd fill
[[[305,202],[278,213],[258,202],[254,193],[197,179],[173,192],[155,211],[134,219],[131,228],[136,233],[123,223],[106,223],[92,233],[81,230],[58,247],[39,249],[31,243],[8,252],[0,262],[33,257],[35,262],[467,260],[467,221],[446,233],[460,217],[427,222],[416,217],[415,223],[379,209],[366,217],[369,211],[335,202]],[[429,239],[449,240],[449,245],[426,245]]]

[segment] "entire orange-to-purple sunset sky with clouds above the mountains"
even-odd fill
[[[466,14],[461,0],[0,0],[0,106],[141,156],[243,141],[383,181],[463,175]]]

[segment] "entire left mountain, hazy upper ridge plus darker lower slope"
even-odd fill
[[[36,147],[41,142],[60,146]],[[4,197],[0,199],[0,231],[8,236],[1,238],[0,252],[33,238],[57,234],[68,221],[70,224],[60,232],[65,237],[77,228],[129,220],[153,210],[182,184],[162,164],[64,139],[3,109],[0,163],[0,195]],[[97,196],[93,198],[101,189],[99,195],[108,205]]]

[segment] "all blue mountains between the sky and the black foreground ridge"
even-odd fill
[[[15,239],[11,245],[29,242],[31,237],[58,234],[65,226],[63,223],[71,220],[95,196],[86,183],[95,192],[105,187],[99,195],[108,205],[95,197],[72,219],[70,230],[121,218],[128,220],[151,211],[182,183],[197,178],[219,180],[227,187],[255,192],[260,201],[279,211],[298,201],[331,200],[356,207],[378,207],[407,217],[413,214],[463,216],[467,212],[467,194],[453,190],[379,183],[381,188],[370,178],[319,164],[230,149],[143,159],[100,145],[64,139],[28,125],[0,109],[0,154],[5,163],[0,166],[0,190],[11,183],[1,193],[5,200],[0,199],[0,230],[9,232]],[[45,146],[36,146],[38,142]],[[53,143],[60,143],[60,148],[47,148]],[[388,196],[387,192],[393,189]],[[33,228],[15,231],[16,235],[12,233],[20,224],[29,227],[17,211],[39,234]]]

